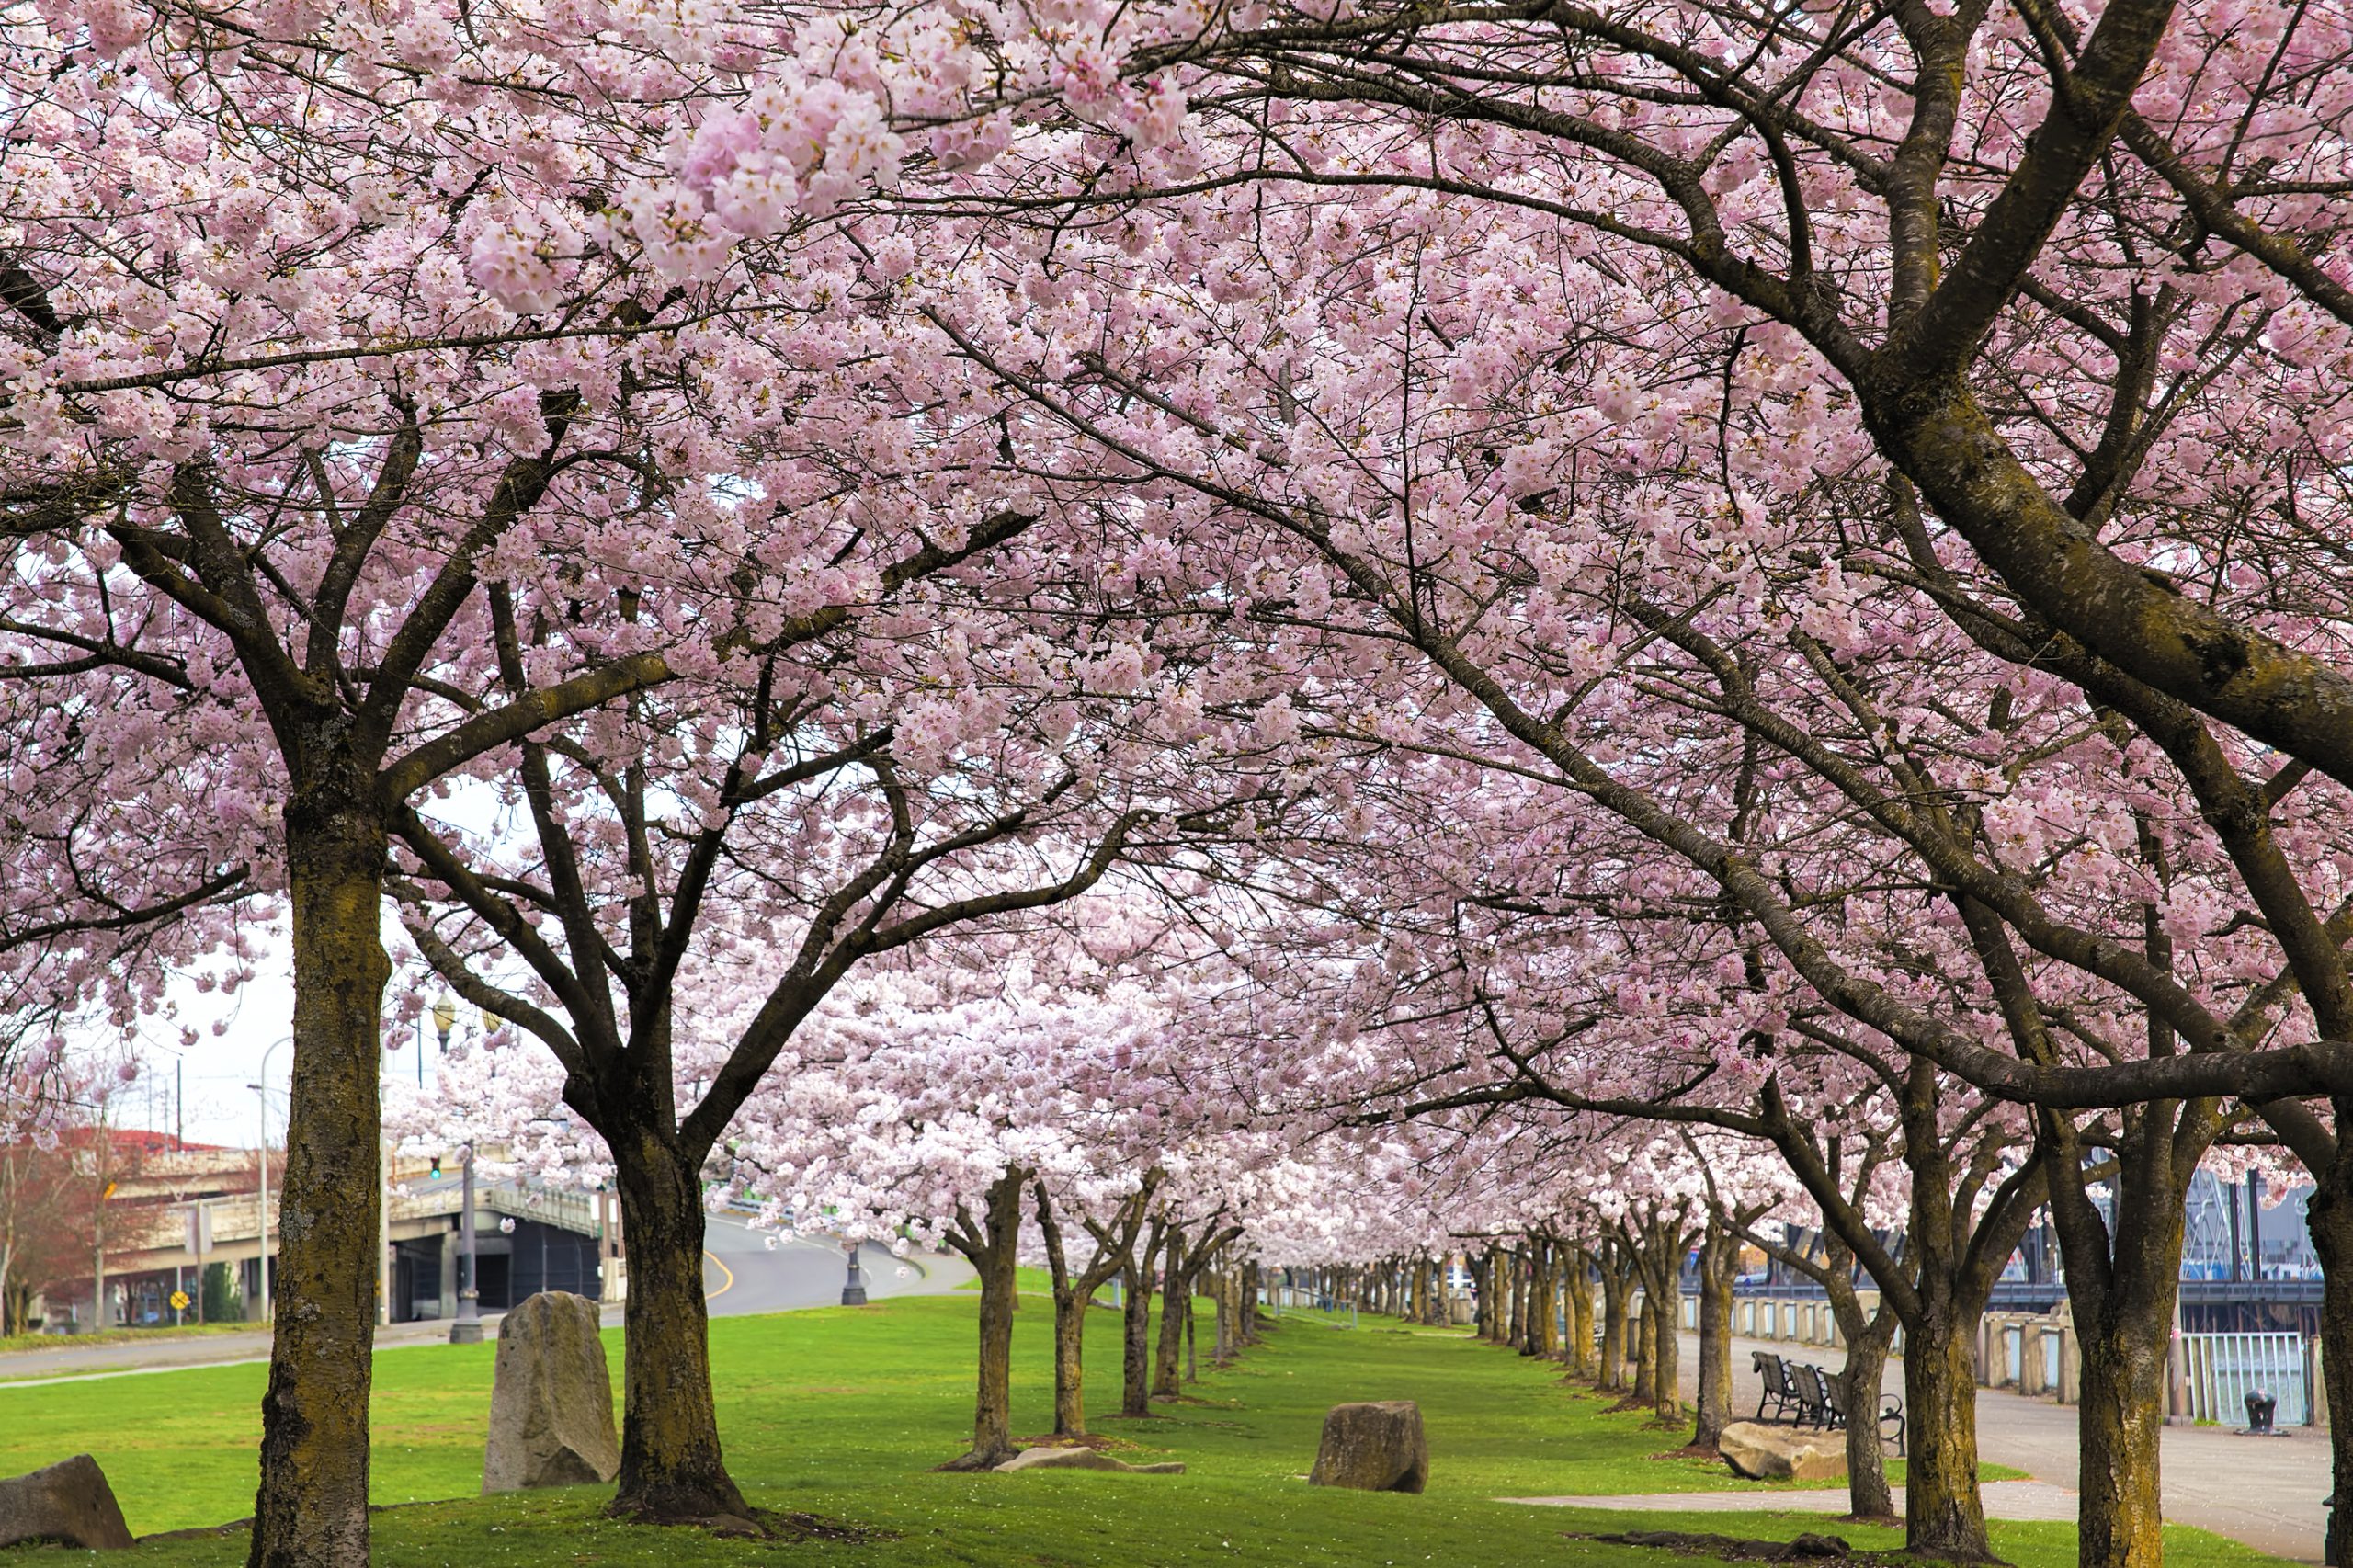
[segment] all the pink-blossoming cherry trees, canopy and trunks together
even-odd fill
[[[998,1344],[1026,1224],[1066,1304],[1454,1224],[1609,1318],[1798,1203],[1955,1559],[2047,1210],[2144,1563],[2181,1196],[2254,1151],[2353,1408],[2334,9],[0,38],[0,979],[49,1059],[285,918],[256,1566],[367,1556],[395,958],[619,1191],[635,1519],[744,1511],[713,1170],[946,1227]]]

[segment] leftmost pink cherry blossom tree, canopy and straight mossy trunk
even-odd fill
[[[704,669],[713,640],[873,584],[838,542],[758,532],[795,497],[753,499],[718,459],[840,386],[821,356],[802,396],[779,337],[856,308],[821,264],[727,273],[649,184],[727,45],[574,21],[5,21],[7,664],[26,702],[78,702],[94,666],[144,680],[125,735],[169,737],[148,810],[268,824],[259,857],[108,897],[160,909],[242,866],[282,878],[292,928],[256,1566],[367,1559],[391,831],[449,770],[673,655]],[[645,567],[678,570],[633,614]],[[527,669],[499,657],[518,643]],[[209,782],[169,772],[198,765]]]

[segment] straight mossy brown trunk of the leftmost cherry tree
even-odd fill
[[[341,793],[341,798],[334,798]],[[367,805],[362,805],[367,800]],[[367,1568],[376,1335],[376,1078],[384,1067],[384,824],[374,779],[285,810],[294,1092],[278,1189],[271,1382],[249,1568]]]

